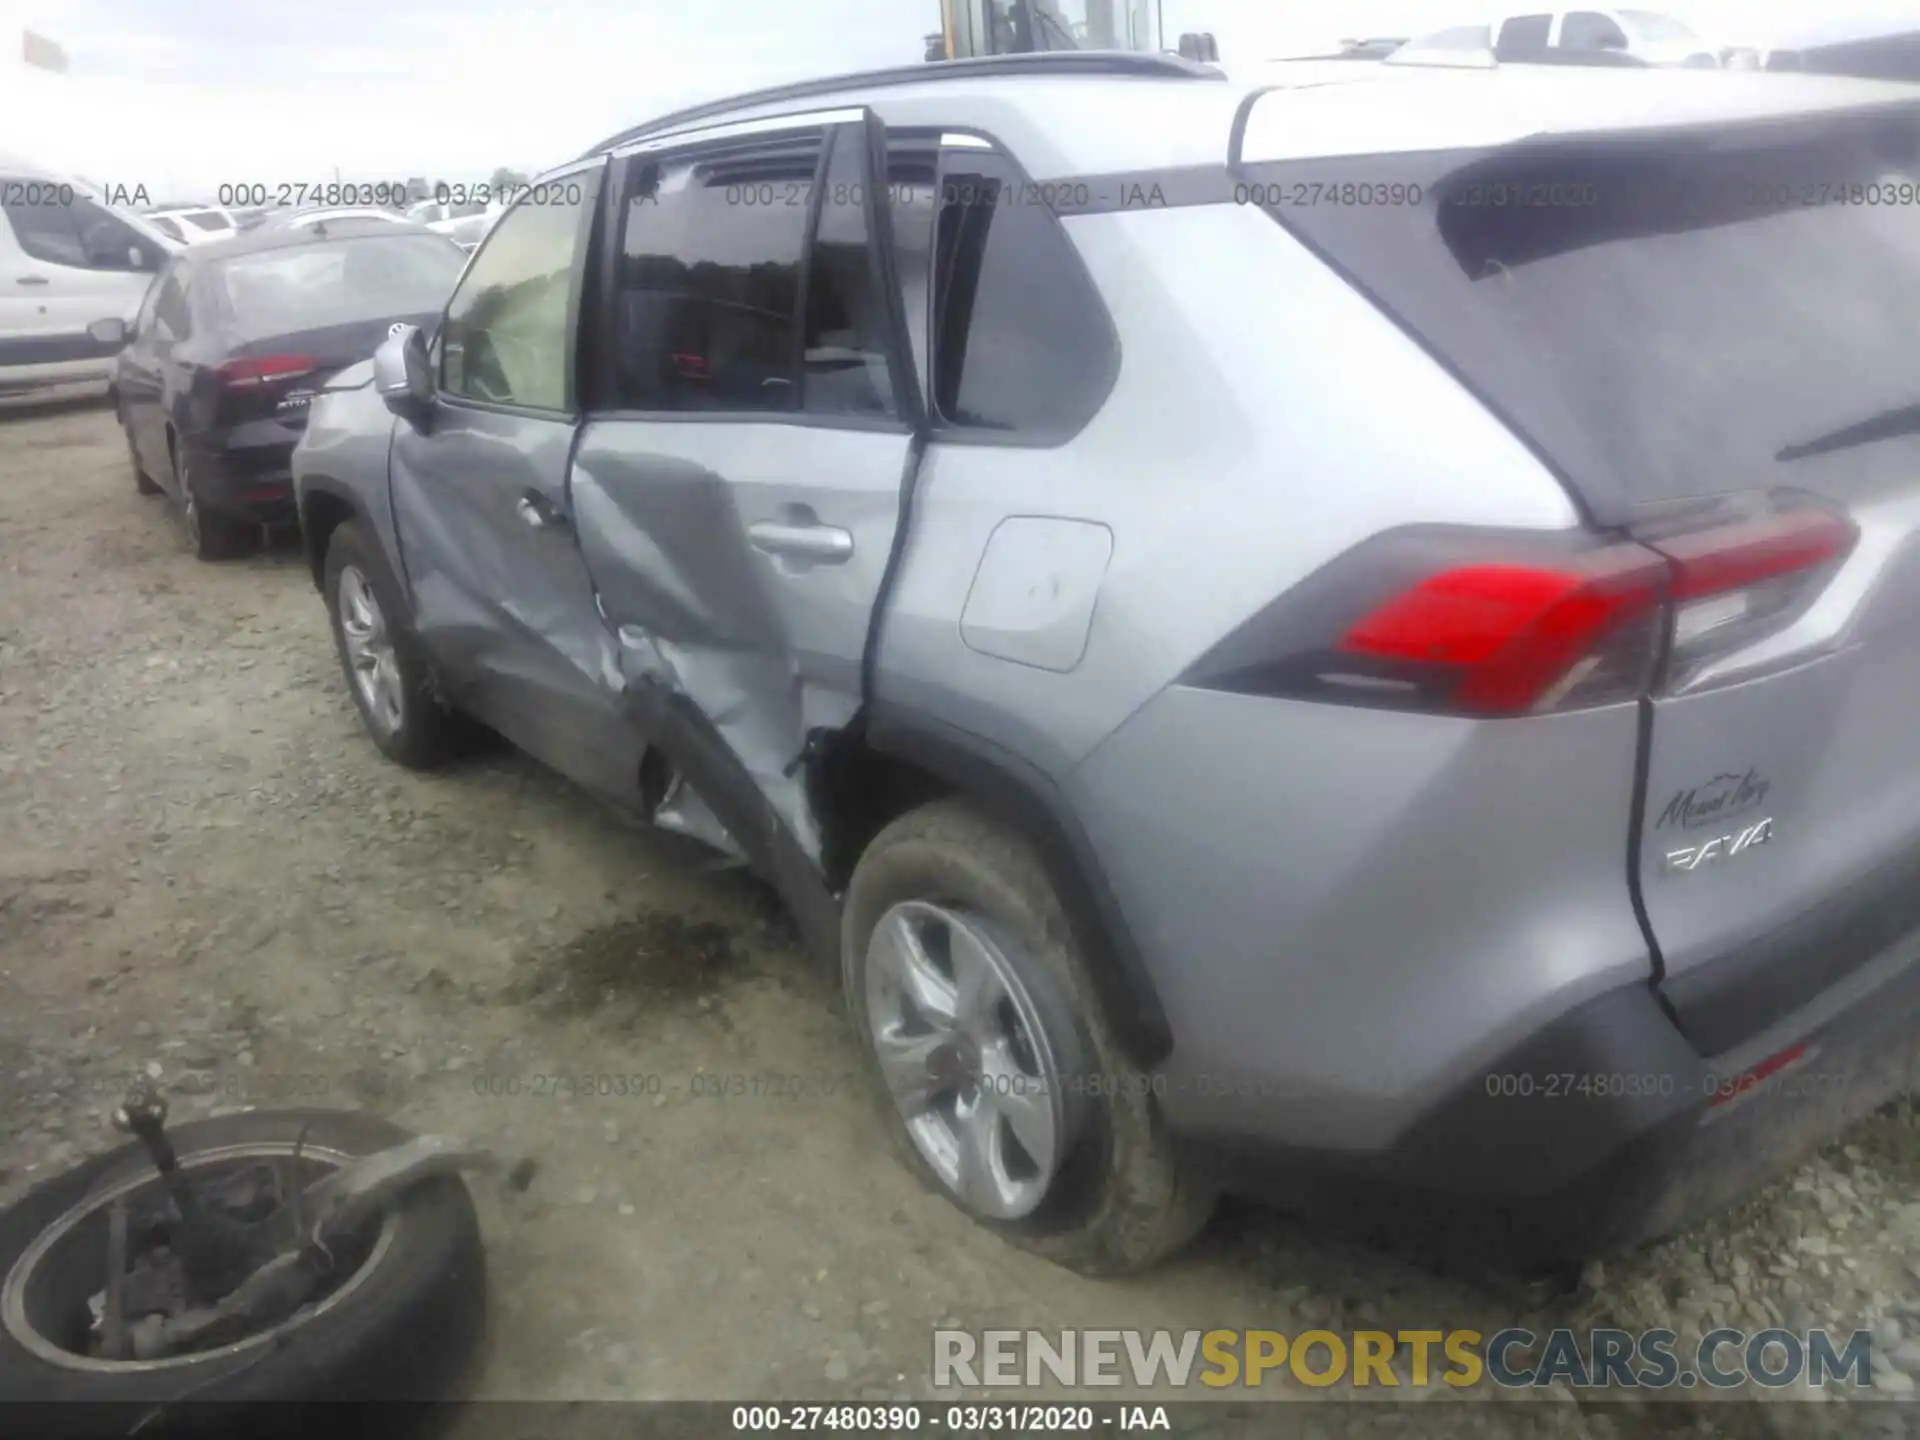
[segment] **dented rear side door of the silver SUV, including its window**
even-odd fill
[[[860,707],[916,380],[866,109],[614,159],[580,543],[639,722],[755,852]],[[747,829],[749,833],[741,833]]]

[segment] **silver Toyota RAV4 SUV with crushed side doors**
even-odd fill
[[[313,578],[396,760],[474,716],[751,860],[1018,1244],[1628,1244],[1908,1083],[1916,123],[1108,54],[684,111],[315,403]]]

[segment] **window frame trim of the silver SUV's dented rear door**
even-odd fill
[[[866,106],[839,106],[828,111],[806,111],[799,115],[774,115],[762,121],[741,121],[737,125],[714,125],[699,131],[685,131],[653,140],[643,140],[612,152],[612,171],[605,188],[607,207],[601,225],[601,263],[595,267],[597,294],[614,296],[620,282],[620,253],[626,242],[626,211],[632,202],[634,177],[649,165],[674,165],[701,154],[753,154],[760,146],[812,138],[818,146],[814,161],[814,190],[806,205],[806,232],[801,250],[801,282],[797,286],[795,311],[795,396],[804,399],[799,386],[801,353],[806,344],[806,278],[812,269],[814,230],[820,223],[820,202],[824,194],[826,167],[833,159],[833,142],[839,129],[868,123],[872,111]],[[868,217],[868,252],[872,259],[874,223]],[[595,303],[591,311],[589,336],[586,338],[591,355],[593,399],[584,405],[589,420],[634,420],[645,424],[783,424],[801,430],[866,430],[876,434],[906,436],[914,428],[902,415],[814,415],[799,407],[787,411],[660,411],[632,405],[607,403],[618,394],[614,374],[614,336],[612,305]],[[889,336],[887,365],[899,372],[899,357],[893,353],[895,342]],[[906,361],[912,365],[912,359]]]

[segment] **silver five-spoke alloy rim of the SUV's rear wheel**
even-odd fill
[[[1071,1027],[1044,1023],[998,931],[925,900],[893,906],[868,941],[866,1016],[887,1091],[941,1183],[991,1219],[1033,1213],[1071,1140]]]

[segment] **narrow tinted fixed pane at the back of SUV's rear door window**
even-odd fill
[[[801,403],[814,415],[893,415],[885,298],[868,246],[866,131],[835,132],[806,265]]]

